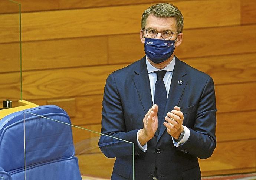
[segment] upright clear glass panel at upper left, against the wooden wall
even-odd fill
[[[22,99],[20,29],[20,4],[0,0],[0,108]]]

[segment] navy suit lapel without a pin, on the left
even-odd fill
[[[153,106],[152,96],[150,91],[150,82],[148,78],[148,70],[146,66],[146,58],[141,59],[141,63],[135,68],[134,72],[137,76],[134,78],[134,84],[137,89],[140,101],[145,113]]]

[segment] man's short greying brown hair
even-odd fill
[[[174,17],[176,20],[176,27],[178,33],[181,33],[183,30],[183,16],[181,11],[169,3],[159,3],[153,6],[150,6],[144,11],[141,18],[141,28],[144,29],[146,26],[147,18],[150,14],[153,14],[155,17]]]

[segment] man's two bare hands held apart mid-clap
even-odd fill
[[[158,128],[158,106],[154,104],[150,108],[143,118],[143,129],[140,130],[138,135],[138,140],[140,144],[145,145],[150,139],[155,135],[155,132]],[[167,113],[167,116],[164,118],[167,122],[164,121],[164,126],[167,128],[167,133],[171,135],[174,139],[178,139],[180,133],[184,131],[182,126],[184,116],[180,111],[180,107],[175,106],[171,112]]]

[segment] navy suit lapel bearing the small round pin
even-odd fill
[[[178,105],[181,95],[183,94],[184,88],[187,84],[186,78],[184,77],[185,75],[186,75],[186,71],[184,69],[182,62],[177,57],[175,57],[173,76],[171,79],[170,91],[169,91],[167,103],[165,106],[164,117],[167,116],[167,113],[170,112],[174,108],[174,106]],[[179,81],[182,81],[182,84],[179,84],[178,83]],[[159,135],[157,138],[157,142],[160,139],[160,137],[163,135],[166,129],[166,127],[163,124],[161,124],[160,126],[161,127],[160,127]]]

